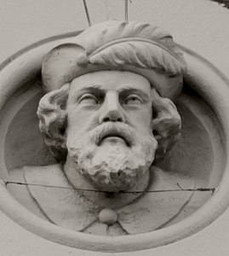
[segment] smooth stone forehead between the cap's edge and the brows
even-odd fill
[[[124,90],[135,89],[144,90],[150,93],[151,84],[143,76],[127,71],[99,71],[84,74],[71,83],[70,90],[73,92],[96,86],[102,90]]]

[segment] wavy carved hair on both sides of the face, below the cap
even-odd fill
[[[58,162],[66,161],[66,102],[69,84],[47,93],[39,102],[37,116],[43,139]],[[158,147],[155,162],[163,160],[180,136],[181,120],[175,104],[152,89],[152,133]]]

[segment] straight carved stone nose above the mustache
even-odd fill
[[[101,108],[100,124],[103,122],[123,122],[123,109],[118,100],[117,92],[106,93],[105,101]]]

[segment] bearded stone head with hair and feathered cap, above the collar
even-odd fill
[[[43,60],[37,110],[51,154],[97,189],[134,186],[180,135],[171,101],[186,62],[172,37],[140,22],[92,26]]]

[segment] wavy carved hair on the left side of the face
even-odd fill
[[[66,103],[69,84],[47,93],[39,102],[37,116],[44,142],[58,161],[66,158]]]

